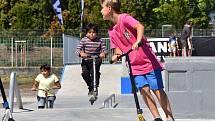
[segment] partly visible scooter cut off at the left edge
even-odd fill
[[[13,119],[12,113],[9,108],[9,104],[8,104],[8,101],[7,101],[5,92],[4,92],[4,87],[2,84],[1,78],[0,78],[0,89],[1,89],[1,94],[2,94],[2,98],[3,98],[3,107],[5,108],[5,113],[3,115],[2,121],[15,121]]]

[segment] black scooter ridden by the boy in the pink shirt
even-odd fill
[[[140,42],[138,44],[138,46],[140,47],[143,43]],[[138,119],[139,121],[146,121],[145,118],[143,117],[143,111],[142,109],[140,108],[140,104],[139,104],[139,100],[138,100],[138,97],[137,97],[137,89],[136,89],[136,84],[135,84],[135,80],[134,80],[134,76],[133,76],[133,73],[132,73],[132,68],[131,68],[131,63],[130,63],[130,59],[129,59],[129,53],[132,52],[133,50],[130,49],[128,52],[120,55],[117,57],[117,60],[121,59],[123,56],[126,57],[126,61],[128,62],[128,67],[129,67],[129,76],[130,76],[130,80],[131,80],[131,85],[132,85],[132,92],[133,92],[133,95],[134,95],[134,100],[135,100],[135,104],[136,104],[136,109],[137,109],[137,115],[138,115]],[[110,63],[112,64],[113,61],[110,61]]]

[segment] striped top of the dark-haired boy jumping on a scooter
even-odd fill
[[[100,38],[96,38],[93,41],[87,37],[81,39],[79,45],[76,48],[76,53],[80,55],[80,52],[85,52],[86,54],[98,55],[102,52],[107,53],[105,42]]]

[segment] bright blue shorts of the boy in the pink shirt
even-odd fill
[[[142,89],[144,86],[149,86],[151,90],[163,89],[163,79],[160,69],[151,71],[144,75],[135,75],[136,87]]]

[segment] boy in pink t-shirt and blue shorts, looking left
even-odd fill
[[[108,29],[111,47],[115,49],[112,61],[116,62],[119,55],[132,48],[133,51],[129,53],[129,58],[136,87],[140,90],[154,121],[163,120],[150,90],[156,95],[167,120],[174,121],[168,97],[163,90],[161,75],[163,67],[144,37],[144,26],[129,14],[120,13],[119,0],[101,0],[101,5],[103,19],[113,22],[113,26]],[[140,42],[143,44],[138,47]]]

